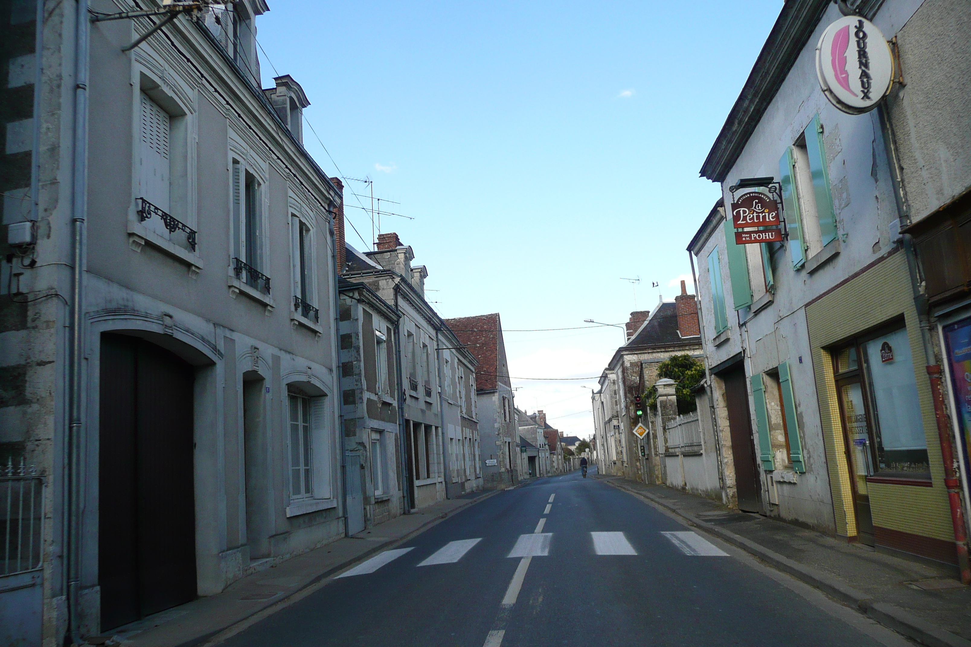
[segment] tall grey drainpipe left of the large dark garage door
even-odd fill
[[[78,0],[75,16],[75,89],[74,89],[74,163],[72,178],[72,228],[74,268],[71,276],[71,347],[69,351],[70,423],[67,430],[67,498],[64,526],[67,544],[68,631],[74,644],[81,645],[81,506],[83,461],[82,434],[82,358],[84,355],[84,253],[87,215],[87,69],[88,30],[87,0]]]

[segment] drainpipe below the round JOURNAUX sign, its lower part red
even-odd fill
[[[877,117],[880,122],[881,135],[887,148],[887,162],[890,166],[890,178],[893,180],[893,198],[897,203],[901,228],[911,224],[910,204],[907,201],[906,185],[903,178],[900,159],[897,155],[896,138],[893,124],[887,114],[886,103],[877,107]],[[926,358],[927,378],[930,382],[931,398],[934,401],[934,418],[937,424],[937,435],[941,443],[941,459],[944,463],[944,486],[948,492],[948,503],[951,507],[951,522],[954,526],[954,549],[957,553],[957,567],[961,574],[962,584],[971,584],[971,564],[968,560],[967,528],[964,522],[964,511],[960,500],[960,482],[954,470],[954,444],[951,441],[951,425],[948,411],[944,403],[944,385],[941,377],[941,363],[937,358],[934,347],[934,335],[931,332],[932,323],[929,316],[927,297],[921,287],[921,268],[918,265],[917,253],[914,249],[914,237],[910,234],[902,236],[902,245],[907,257],[907,269],[910,273],[911,288],[914,294],[914,307],[917,310],[918,321],[921,326],[921,341],[923,342],[924,357]],[[962,474],[966,479],[967,474]]]

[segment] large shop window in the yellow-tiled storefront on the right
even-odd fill
[[[854,341],[834,356],[847,451],[867,476],[930,480],[927,438],[906,328]]]

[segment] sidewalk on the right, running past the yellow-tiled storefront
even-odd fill
[[[971,587],[954,568],[911,562],[663,485],[600,476],[931,647],[971,647]]]

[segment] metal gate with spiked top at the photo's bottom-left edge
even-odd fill
[[[40,645],[44,482],[22,459],[0,467],[0,645]]]

